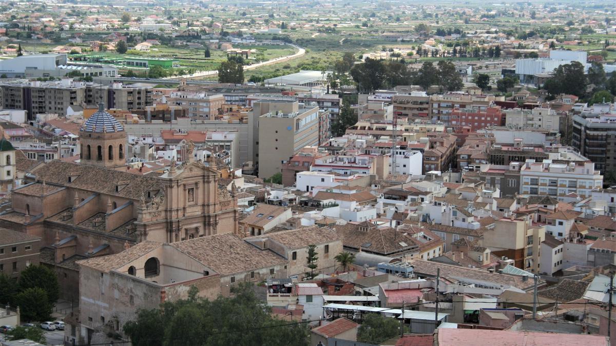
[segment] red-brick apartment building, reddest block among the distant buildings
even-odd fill
[[[476,108],[455,108],[451,113],[450,125],[453,131],[462,132],[463,127],[469,127],[475,132],[490,126],[504,126],[505,115],[499,106]]]

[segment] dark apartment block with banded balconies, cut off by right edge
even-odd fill
[[[571,146],[599,171],[616,169],[616,113],[574,115]]]

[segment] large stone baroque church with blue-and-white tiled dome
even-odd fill
[[[0,214],[0,227],[40,236],[42,253],[57,270],[75,277],[70,268],[76,260],[145,240],[238,234],[235,188],[219,185],[213,161],[172,162],[161,175],[129,173],[126,132],[102,106],[84,123],[80,139],[80,164],[34,165],[25,172],[25,184],[10,192],[12,209]],[[67,286],[78,287],[64,277]]]

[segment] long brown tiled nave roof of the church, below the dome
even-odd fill
[[[163,188],[160,180],[155,177],[57,160],[37,170],[36,177],[47,183],[131,199],[140,199],[147,191]],[[73,180],[68,182],[68,177]],[[126,186],[116,192],[116,185],[124,184]]]

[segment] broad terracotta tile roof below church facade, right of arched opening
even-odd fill
[[[246,243],[237,235],[202,236],[170,244],[220,275],[230,275],[259,268],[286,264],[286,260],[269,250]]]

